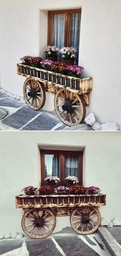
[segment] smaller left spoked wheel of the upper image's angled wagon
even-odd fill
[[[23,92],[25,100],[30,108],[38,110],[44,106],[46,94],[42,83],[28,78],[24,83]]]

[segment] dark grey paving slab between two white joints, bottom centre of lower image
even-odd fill
[[[86,245],[77,235],[54,237],[58,245],[63,249],[67,256],[99,256],[92,248]]]

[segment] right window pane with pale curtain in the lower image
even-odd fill
[[[65,156],[65,178],[67,176],[76,176],[78,178],[78,156]]]

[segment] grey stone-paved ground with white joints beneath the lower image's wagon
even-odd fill
[[[42,240],[34,240],[26,236],[24,239],[30,256],[111,256],[98,232],[78,235],[71,228],[65,228]],[[24,239],[1,240],[0,253],[21,247]]]

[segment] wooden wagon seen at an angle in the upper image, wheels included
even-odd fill
[[[79,79],[22,63],[17,64],[17,74],[27,77],[23,91],[30,108],[41,109],[45,92],[49,92],[55,94],[55,111],[63,123],[72,126],[83,122],[92,90],[91,77]]]

